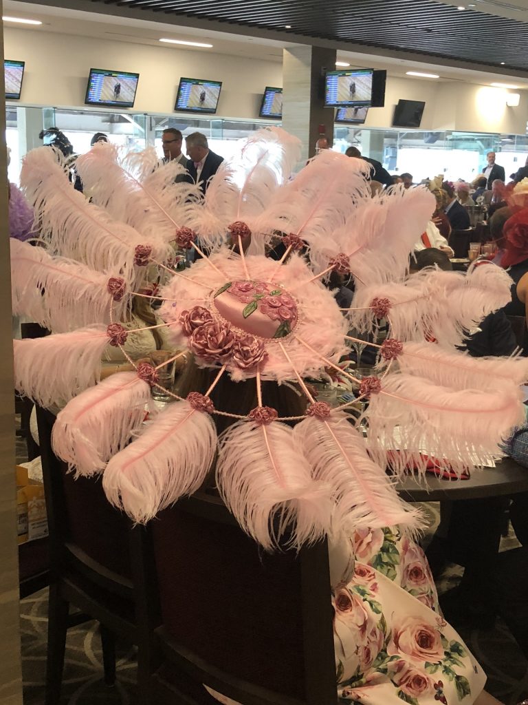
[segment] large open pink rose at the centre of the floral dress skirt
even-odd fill
[[[406,654],[417,661],[434,663],[444,658],[441,634],[436,627],[421,617],[404,617],[394,624],[394,644],[389,644],[388,653]]]

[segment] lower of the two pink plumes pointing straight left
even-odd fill
[[[61,405],[99,381],[106,345],[106,326],[15,340],[15,388],[41,406]]]

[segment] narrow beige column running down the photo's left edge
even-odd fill
[[[1,20],[0,59],[4,63],[4,25]],[[0,95],[0,703],[22,705],[4,73],[0,73]]]

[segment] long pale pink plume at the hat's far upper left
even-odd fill
[[[158,262],[166,259],[170,250],[157,235],[147,241],[134,228],[90,203],[70,184],[64,168],[54,149],[39,147],[24,157],[20,173],[51,252],[77,259],[96,271],[119,266],[120,276],[134,286],[145,274],[144,268],[134,266],[135,247],[151,245]]]

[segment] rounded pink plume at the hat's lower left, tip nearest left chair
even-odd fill
[[[58,413],[54,452],[77,475],[102,472],[137,433],[151,388],[136,372],[118,372],[71,399]]]

